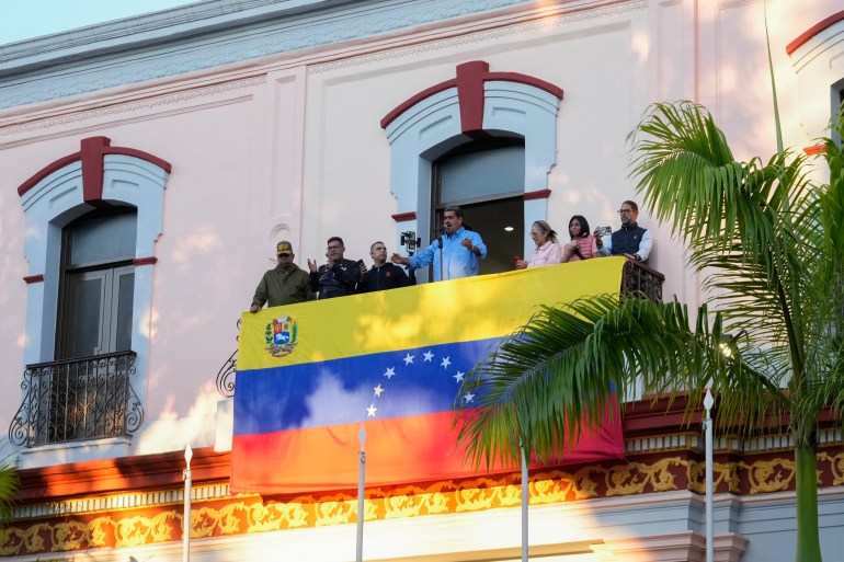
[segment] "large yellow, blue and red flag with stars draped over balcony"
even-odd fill
[[[366,485],[476,473],[455,445],[464,377],[539,305],[618,293],[623,259],[484,275],[243,313],[231,491],[353,489],[361,423]],[[618,415],[562,463],[624,456]],[[559,463],[559,462],[558,462]]]

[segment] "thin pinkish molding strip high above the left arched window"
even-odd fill
[[[78,123],[84,123],[88,121],[94,121],[100,118],[107,118],[114,115],[123,115],[128,113],[136,113],[147,111],[156,107],[162,107],[166,105],[173,105],[182,102],[187,102],[201,98],[208,98],[212,95],[233,92],[237,90],[243,90],[248,88],[256,88],[266,83],[266,74],[258,77],[247,78],[243,80],[233,80],[228,82],[221,82],[208,87],[198,87],[184,89],[178,92],[171,92],[167,94],[156,95],[138,100],[134,102],[118,103],[114,105],[107,105],[96,110],[80,110],[71,113],[64,114],[58,117],[44,117],[36,118],[20,125],[13,125],[9,127],[2,127],[0,125],[0,137],[11,137],[25,133],[33,133],[43,129],[52,129],[57,127],[64,127],[67,125],[75,125]],[[1,91],[2,89],[0,89]]]

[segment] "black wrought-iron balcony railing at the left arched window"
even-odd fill
[[[27,365],[9,440],[33,447],[127,436],[144,422],[129,383],[135,352]]]

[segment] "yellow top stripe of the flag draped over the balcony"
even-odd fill
[[[243,312],[238,370],[500,337],[539,305],[617,294],[624,263],[586,260]],[[267,332],[280,318],[288,318],[290,337],[295,325],[296,340],[288,354],[273,356]]]

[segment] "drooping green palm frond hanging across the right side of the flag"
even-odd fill
[[[458,408],[477,410],[456,417],[459,440],[476,464],[517,464],[521,446],[555,458],[560,444],[612,413],[614,395],[627,395],[638,383],[653,394],[691,392],[689,404],[699,403],[708,386],[741,392],[743,417],[733,423],[754,424],[782,402],[782,393],[754,398],[776,391],[776,383],[740,354],[725,356],[723,339],[719,316],[710,323],[704,308],[692,329],[678,302],[603,296],[546,307],[467,377],[460,395],[475,400]],[[749,412],[749,400],[756,411]],[[740,403],[727,401],[722,411],[733,414]]]

